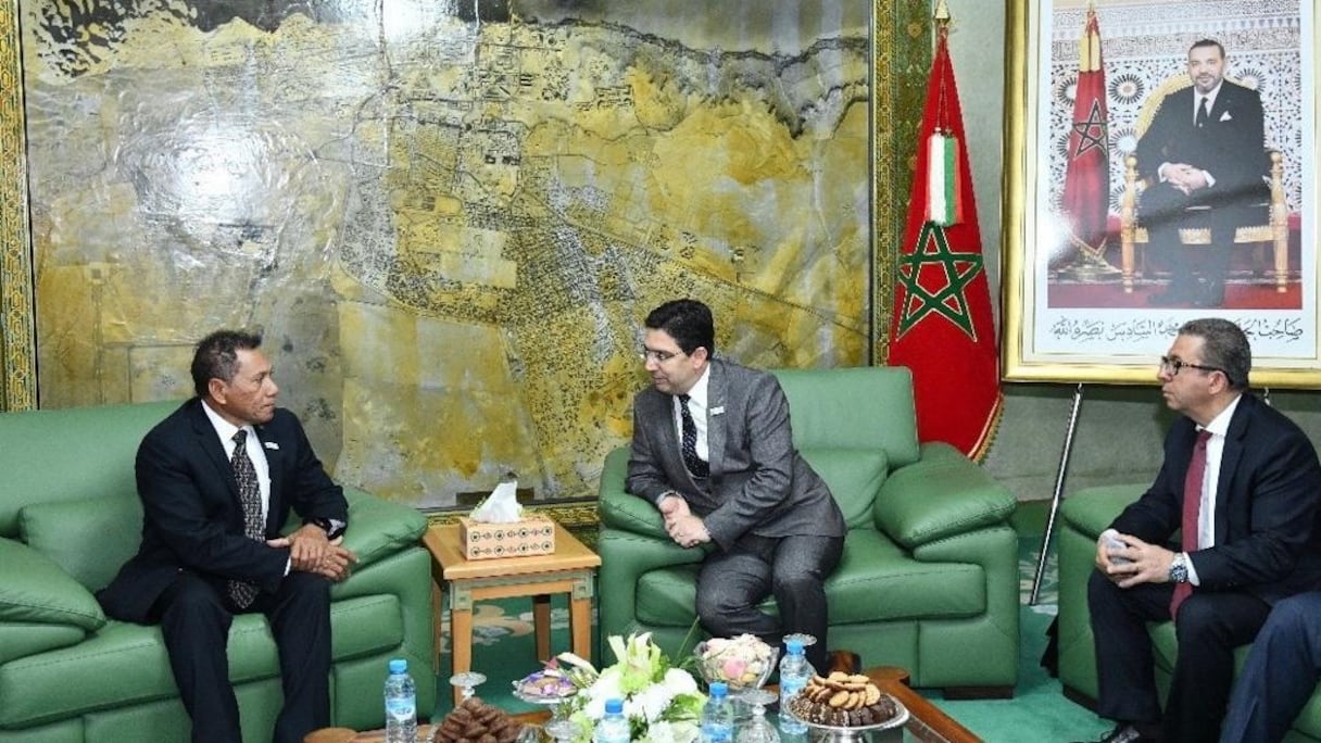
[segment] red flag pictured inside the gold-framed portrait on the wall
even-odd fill
[[[1096,9],[1078,40],[1078,87],[1073,131],[1065,163],[1063,212],[1069,242],[1089,258],[1103,258],[1110,213],[1110,116],[1106,112],[1106,69],[1100,59]]]

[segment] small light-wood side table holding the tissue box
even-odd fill
[[[601,557],[555,525],[555,553],[548,555],[468,559],[458,538],[458,525],[432,526],[423,535],[431,553],[432,623],[436,648],[441,640],[441,612],[449,595],[449,633],[454,673],[473,668],[473,602],[482,599],[532,598],[536,657],[551,657],[551,595],[569,594],[569,625],[573,653],[592,660],[592,596]],[[440,658],[436,664],[439,668]],[[462,690],[454,689],[454,703]]]

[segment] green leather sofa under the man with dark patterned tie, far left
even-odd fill
[[[160,629],[107,620],[92,598],[137,550],[133,455],[177,406],[0,414],[0,743],[188,740]],[[345,494],[361,562],[332,594],[332,717],[365,730],[383,724],[388,658],[429,678],[431,559],[419,512]],[[236,619],[229,656],[243,738],[269,740],[283,697],[262,615]],[[417,697],[432,709],[435,684]]]

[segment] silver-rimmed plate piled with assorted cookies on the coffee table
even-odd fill
[[[904,705],[871,678],[839,670],[814,676],[789,702],[789,710],[810,727],[839,732],[898,727],[909,718]]]

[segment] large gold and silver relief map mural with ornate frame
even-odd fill
[[[749,365],[884,358],[929,13],[11,0],[5,390],[24,333],[66,407],[184,398],[199,336],[259,328],[338,480],[590,496],[666,299]]]

